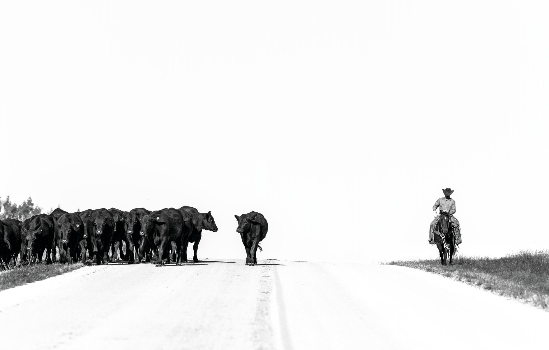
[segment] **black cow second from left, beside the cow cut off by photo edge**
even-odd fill
[[[47,214],[38,214],[32,216],[32,218],[24,221],[21,227],[25,231],[21,232],[21,238],[24,241],[21,242],[21,247],[25,246],[26,254],[29,258],[29,262],[32,263],[38,259],[38,262],[42,263],[42,255],[46,250],[46,263],[51,264],[52,246],[55,246],[55,228],[53,218]],[[55,254],[55,253],[54,253]]]

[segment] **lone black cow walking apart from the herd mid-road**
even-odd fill
[[[268,224],[265,216],[261,213],[256,213],[253,210],[248,214],[240,216],[234,215],[238,221],[237,232],[242,238],[244,248],[246,248],[246,265],[256,265],[257,248],[262,251],[259,242],[267,235]]]

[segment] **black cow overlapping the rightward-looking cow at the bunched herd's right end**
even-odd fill
[[[156,266],[163,265],[165,253],[169,253],[170,242],[175,242],[176,264],[181,263],[182,231],[183,217],[178,209],[156,210],[143,218],[139,234],[144,237],[152,233],[153,243],[158,251]]]

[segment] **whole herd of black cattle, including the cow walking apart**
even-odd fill
[[[255,265],[257,248],[262,250],[259,242],[267,235],[267,220],[254,211],[234,216],[246,249],[246,265]],[[39,214],[24,221],[4,219],[1,223],[1,268],[15,263],[18,254],[22,263],[42,263],[44,251],[48,264],[56,261],[59,252],[60,263],[86,263],[89,259],[97,265],[118,260],[179,265],[188,261],[189,243],[194,243],[193,262],[197,263],[202,230],[217,231],[211,212],[200,213],[187,205],[154,212],[144,208],[129,212],[102,208],[68,213],[57,208],[49,215]]]

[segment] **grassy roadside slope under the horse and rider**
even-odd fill
[[[442,266],[440,259],[426,259],[386,264],[450,277],[549,311],[549,251],[520,251],[503,258],[462,256],[453,263]]]

